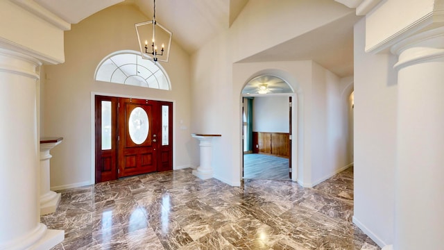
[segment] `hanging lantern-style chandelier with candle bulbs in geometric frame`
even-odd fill
[[[153,20],[135,24],[139,49],[144,59],[168,62],[173,33],[155,20],[155,0],[153,1]],[[162,44],[160,49],[158,44]]]

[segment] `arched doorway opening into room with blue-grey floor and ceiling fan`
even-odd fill
[[[291,180],[293,90],[277,76],[258,76],[242,91],[242,177]]]

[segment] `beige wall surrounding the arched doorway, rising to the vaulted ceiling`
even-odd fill
[[[220,133],[221,138],[213,143],[214,176],[231,185],[239,185],[241,178],[241,90],[244,84],[261,71],[282,72],[285,80],[293,84],[311,84],[311,62],[268,62],[260,67],[251,66],[248,74],[241,72],[242,64],[233,63],[295,38],[302,33],[332,22],[350,13],[349,8],[334,1],[249,1],[236,21],[225,32],[205,44],[191,56],[192,123],[191,131]],[[316,13],[316,14],[314,14]],[[298,25],[293,25],[298,24]],[[260,39],[256,39],[260,38]],[[301,67],[296,67],[302,64]],[[250,65],[255,65],[250,64]],[[239,67],[239,68],[238,68]],[[250,67],[250,66],[246,66]],[[255,71],[253,68],[255,68]],[[280,69],[280,68],[283,69]],[[233,72],[233,70],[236,72]],[[300,74],[296,74],[300,72]],[[293,85],[293,88],[299,88]],[[311,88],[302,88],[301,103],[310,103]],[[299,101],[299,100],[298,100]],[[309,106],[302,109],[305,124],[310,122]],[[305,126],[305,125],[304,125]],[[298,129],[303,131],[304,127]],[[309,132],[303,131],[300,144],[304,156],[298,157],[298,166],[311,166]],[[196,152],[197,142],[194,142]],[[301,150],[294,147],[293,150]],[[198,155],[197,153],[195,154]],[[198,158],[193,158],[193,165]],[[303,164],[302,164],[303,163]],[[311,183],[311,168],[300,169],[298,178]]]

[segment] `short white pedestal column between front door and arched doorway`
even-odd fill
[[[212,160],[212,139],[215,136],[221,135],[201,135],[191,134],[193,138],[199,140],[200,147],[200,165],[196,170],[193,170],[193,174],[199,178],[205,180],[213,177],[213,169],[211,166]]]

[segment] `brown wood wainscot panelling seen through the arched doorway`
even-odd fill
[[[290,157],[290,134],[253,131],[253,153]]]

